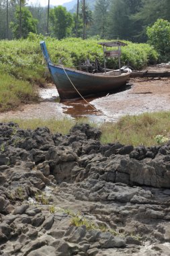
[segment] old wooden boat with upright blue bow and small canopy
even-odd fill
[[[101,42],[103,45],[104,55],[107,57],[118,56],[120,58],[120,51],[105,51],[106,46],[124,46],[123,42]],[[87,73],[63,67],[62,65],[54,65],[50,60],[46,44],[44,41],[40,42],[42,53],[48,69],[58,90],[60,100],[69,100],[73,98],[81,98],[96,95],[103,92],[113,92],[114,90],[124,86],[130,76],[131,70],[126,68],[122,72],[121,69],[106,71],[103,73]],[[120,63],[120,61],[119,61]]]

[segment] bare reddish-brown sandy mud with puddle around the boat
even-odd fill
[[[169,68],[157,67],[155,70],[169,71]],[[88,117],[92,121],[103,122],[117,121],[123,115],[170,110],[170,78],[133,78],[129,84],[131,88],[123,92],[89,99],[95,110],[83,100],[59,103],[58,92],[55,86],[50,85],[49,88],[40,89],[40,104],[29,104],[19,111],[1,113],[0,120]]]

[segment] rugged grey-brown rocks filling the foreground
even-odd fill
[[[0,123],[0,255],[170,255],[170,142]]]

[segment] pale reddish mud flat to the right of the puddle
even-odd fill
[[[118,121],[124,115],[170,110],[169,78],[130,79],[132,88],[97,98],[91,102],[105,115],[106,121]]]

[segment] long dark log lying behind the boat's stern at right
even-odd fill
[[[132,71],[130,77],[170,77],[170,71]]]

